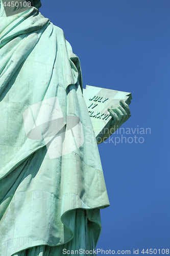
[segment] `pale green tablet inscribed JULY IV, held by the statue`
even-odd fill
[[[120,100],[124,100],[129,105],[132,95],[128,92],[86,86],[86,89],[83,89],[83,96],[91,118],[96,140],[100,144],[104,141],[101,138],[112,126],[112,117],[108,112],[108,108],[110,106],[118,106]]]

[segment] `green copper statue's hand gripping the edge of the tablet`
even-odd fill
[[[120,105],[118,106],[111,106],[111,108],[108,108],[110,116],[113,118],[112,125],[117,127],[120,127],[120,125],[126,122],[131,116],[128,104],[123,100],[120,100],[119,103]]]

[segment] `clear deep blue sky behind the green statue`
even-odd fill
[[[41,3],[40,12],[63,29],[79,56],[83,87],[126,91],[133,97],[132,116],[122,126],[131,134],[121,131],[99,145],[110,207],[101,210],[97,248],[131,254],[139,249],[139,255],[142,249],[170,249],[169,0]],[[137,128],[144,133],[150,128],[151,134],[137,134]],[[121,143],[122,135],[133,142]],[[120,138],[116,145],[115,137]]]

